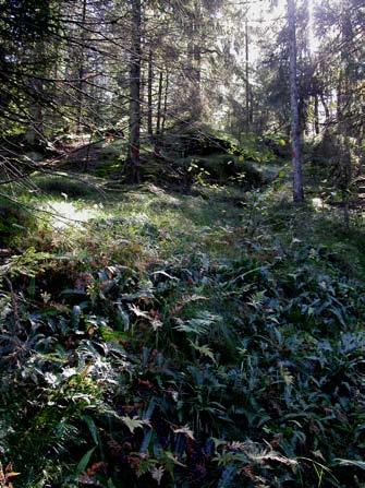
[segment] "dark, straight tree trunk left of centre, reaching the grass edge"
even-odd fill
[[[130,160],[132,181],[138,183],[141,150],[141,0],[132,0],[132,49],[130,61]]]

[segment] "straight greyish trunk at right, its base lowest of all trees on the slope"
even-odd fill
[[[290,44],[290,100],[292,122],[292,164],[293,164],[293,199],[294,202],[304,201],[302,174],[301,120],[299,110],[297,69],[296,69],[296,25],[295,2],[288,0],[288,23]]]

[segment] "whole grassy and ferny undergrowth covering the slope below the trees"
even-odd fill
[[[285,191],[80,185],[50,202],[73,221],[15,227],[0,267],[15,486],[364,486],[364,234]]]

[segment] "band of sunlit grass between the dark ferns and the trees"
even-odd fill
[[[358,274],[358,263],[364,262],[361,231],[349,241],[341,215],[315,193],[309,205],[295,209],[289,203],[290,186],[282,179],[258,193],[207,186],[196,188],[194,194],[181,194],[145,185],[107,194],[88,190],[82,198],[78,186],[72,186],[77,198],[42,200],[49,230],[40,237],[32,235],[25,246],[72,253],[85,266],[92,261],[95,267],[119,263],[143,269],[151,262],[202,257],[210,262],[234,260],[247,252],[265,258],[267,252],[260,249],[276,253],[278,246],[299,239],[315,249],[332,249],[338,260],[351,252],[354,265],[343,263],[348,274]],[[54,192],[58,187],[52,182],[51,188]]]

